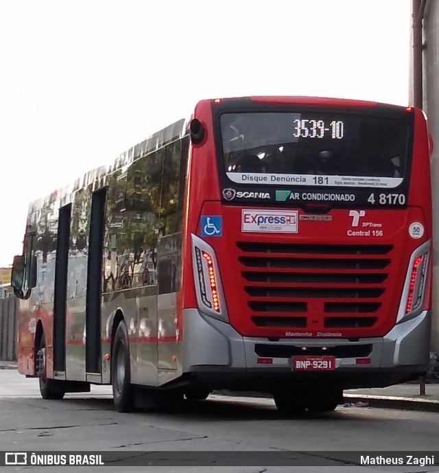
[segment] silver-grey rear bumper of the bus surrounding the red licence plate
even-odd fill
[[[337,382],[344,389],[385,387],[415,379],[429,367],[431,313],[395,325],[383,337],[243,337],[199,310],[185,311],[182,372],[217,389],[257,389],[268,380]],[[297,355],[335,356],[333,371],[294,371]],[[243,384],[243,386],[241,386]],[[239,386],[238,386],[239,385]],[[264,390],[264,389],[262,389]]]

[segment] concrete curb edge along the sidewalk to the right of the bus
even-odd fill
[[[367,402],[371,407],[402,409],[405,411],[439,412],[439,400],[429,400],[421,397],[400,397],[380,395],[345,394],[344,402]]]

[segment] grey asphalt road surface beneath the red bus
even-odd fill
[[[121,414],[112,408],[109,387],[40,399],[38,381],[0,370],[0,450],[294,451],[312,465],[313,451],[334,452],[332,467],[216,467],[215,472],[439,472],[436,466],[364,467],[337,461],[336,452],[439,450],[439,413],[339,406],[333,413],[285,419],[274,402],[250,397],[214,396],[174,411]],[[318,453],[316,453],[318,455]],[[439,451],[436,458],[439,463]],[[5,467],[47,471],[48,467]],[[211,467],[212,468],[212,467]],[[210,468],[209,468],[210,469]],[[171,473],[203,472],[195,467],[62,467],[49,471],[96,470]]]

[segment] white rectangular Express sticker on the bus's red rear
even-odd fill
[[[243,210],[242,231],[297,233],[298,212],[281,210]]]

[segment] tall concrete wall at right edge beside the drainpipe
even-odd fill
[[[439,2],[435,0],[427,1],[424,16],[424,41],[423,108],[428,117],[429,132],[434,139],[434,151],[431,157],[434,233],[434,321],[431,348],[439,352]]]

